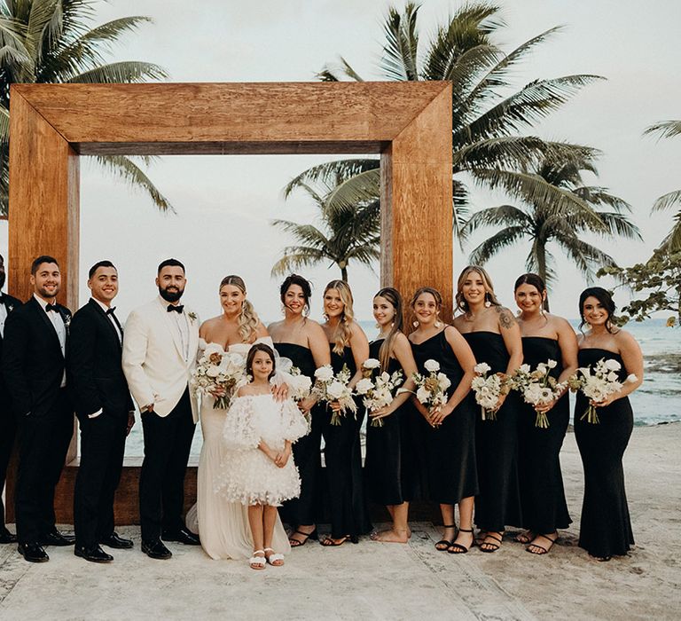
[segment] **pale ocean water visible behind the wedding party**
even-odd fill
[[[372,339],[376,327],[372,321],[360,321],[367,336]],[[573,326],[577,321],[571,322]],[[625,326],[641,346],[645,361],[643,385],[630,395],[637,426],[657,425],[681,421],[681,328],[665,326],[664,319],[648,319],[641,323],[630,322]],[[574,396],[570,396],[574,405]],[[201,450],[201,433],[197,429],[192,443],[192,456]],[[126,457],[144,454],[142,425],[137,423],[130,431],[126,444]]]

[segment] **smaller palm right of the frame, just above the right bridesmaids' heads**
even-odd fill
[[[607,188],[584,185],[583,171],[597,173],[590,159],[578,164],[544,161],[534,171],[515,173],[518,177],[514,181],[518,187],[515,198],[522,200],[524,206],[486,208],[471,217],[466,224],[469,233],[486,226],[503,227],[474,249],[471,263],[487,263],[504,248],[529,240],[532,245],[526,266],[528,271],[536,271],[547,286],[556,276],[552,268],[553,255],[548,248],[551,243],[558,245],[587,279],[593,277],[595,267],[614,265],[613,257],[584,241],[583,234],[636,240],[640,240],[641,235],[638,227],[623,215],[631,211],[630,205],[608,193]],[[534,184],[537,188],[550,185],[552,192],[528,193],[526,188],[521,188],[523,183],[530,185],[535,179],[540,180]],[[506,186],[513,188],[512,183]],[[560,200],[555,200],[556,196],[560,196]]]

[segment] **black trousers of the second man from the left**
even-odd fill
[[[20,419],[20,453],[14,499],[20,543],[39,541],[54,529],[54,488],[74,433],[74,413],[67,389],[47,413]]]

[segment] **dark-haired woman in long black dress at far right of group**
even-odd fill
[[[643,355],[631,334],[613,326],[614,302],[601,287],[584,289],[579,296],[579,366],[593,366],[601,358],[622,365],[622,389],[599,402],[598,424],[583,418],[589,400],[580,391],[575,405],[575,437],[584,468],[584,502],[579,546],[598,561],[627,554],[634,543],[624,491],[622,455],[629,443],[634,419],[628,395],[643,382]],[[630,373],[636,378],[624,381]]]

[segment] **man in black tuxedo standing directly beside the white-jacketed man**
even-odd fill
[[[133,546],[114,531],[114,494],[121,480],[125,438],[135,409],[121,366],[123,330],[111,305],[118,294],[114,263],[100,261],[88,273],[90,302],[74,314],[67,370],[81,424],[81,465],[75,480],[76,556],[111,562],[99,544]]]

